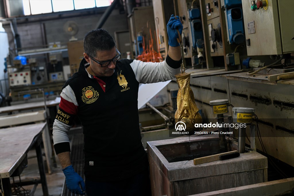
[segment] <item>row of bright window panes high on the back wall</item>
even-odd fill
[[[113,0],[22,0],[24,15],[110,6]]]

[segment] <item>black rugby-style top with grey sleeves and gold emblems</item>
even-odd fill
[[[125,179],[148,167],[138,116],[139,83],[163,82],[179,73],[180,61],[159,63],[121,59],[104,81],[89,74],[85,59],[68,79],[53,124],[56,154],[70,151],[69,129],[83,125],[85,176],[98,181]]]

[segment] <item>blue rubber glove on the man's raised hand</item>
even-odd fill
[[[172,14],[171,18],[169,19],[166,29],[167,29],[167,34],[168,34],[168,45],[170,46],[179,46],[180,44],[177,41],[178,36],[178,31],[179,30],[180,34],[182,34],[183,31],[183,25],[179,19],[179,16],[176,16],[177,19],[175,19],[175,16]]]

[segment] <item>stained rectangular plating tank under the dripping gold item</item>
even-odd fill
[[[267,158],[255,151],[194,165],[194,158],[220,153],[218,135],[191,137],[191,142],[188,137],[147,142],[147,150],[153,196],[185,196],[267,182]]]

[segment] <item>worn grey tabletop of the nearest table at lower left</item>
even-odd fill
[[[34,137],[46,126],[45,123],[29,124],[0,129],[0,174],[2,178],[12,175],[25,158]]]

